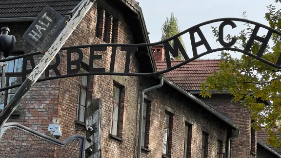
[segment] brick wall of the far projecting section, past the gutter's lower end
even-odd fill
[[[196,97],[201,98],[199,95]],[[202,98],[201,98],[202,99]],[[247,108],[231,102],[232,96],[228,94],[212,95],[211,98],[202,99],[209,105],[232,119],[241,128],[241,134],[231,144],[231,158],[251,158],[251,115]],[[237,132],[233,132],[236,135]]]

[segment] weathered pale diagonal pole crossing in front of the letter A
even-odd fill
[[[73,18],[67,22],[67,25],[60,33],[59,37],[51,45],[50,49],[45,53],[43,58],[40,60],[39,64],[33,69],[30,75],[24,80],[19,90],[10,100],[10,102],[5,106],[3,111],[0,113],[0,128],[9,119],[11,114],[19,105],[21,99],[29,92],[34,83],[40,78],[41,74],[50,64],[50,62],[55,58],[55,56],[60,51],[65,41],[70,37],[72,32],[75,30],[77,25],[86,15],[88,10],[92,7],[96,0],[83,0],[83,2],[78,7],[77,11],[74,13]]]

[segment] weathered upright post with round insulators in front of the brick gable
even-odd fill
[[[101,158],[101,106],[100,99],[87,104],[85,158]]]

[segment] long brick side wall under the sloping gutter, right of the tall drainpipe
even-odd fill
[[[139,93],[141,93],[141,90],[144,88],[157,84],[159,84],[159,80],[155,81],[152,78],[142,78]],[[206,110],[197,103],[188,99],[165,83],[160,89],[148,92],[146,95],[153,99],[151,102],[148,145],[148,149],[151,150],[151,152],[147,153],[142,151],[142,158],[161,157],[164,113],[167,107],[171,109],[174,114],[171,158],[183,158],[185,120],[193,124],[191,158],[201,158],[202,130],[207,130],[207,132],[209,132],[208,158],[216,158],[218,138],[222,139],[223,152],[225,152],[228,125],[206,112]]]

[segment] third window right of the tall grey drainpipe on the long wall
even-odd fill
[[[191,132],[192,132],[192,125],[185,122],[184,156],[183,156],[183,158],[190,158],[191,157]]]

